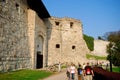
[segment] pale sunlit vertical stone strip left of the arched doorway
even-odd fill
[[[35,11],[28,9],[28,45],[29,45],[29,54],[31,56],[31,65],[32,68],[36,68],[35,60]]]

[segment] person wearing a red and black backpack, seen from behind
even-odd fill
[[[84,76],[85,76],[84,80],[93,80],[94,73],[89,63],[87,63],[87,65],[85,66]]]

